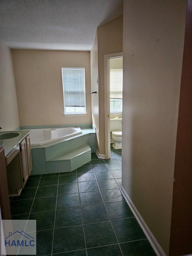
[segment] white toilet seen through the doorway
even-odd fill
[[[122,118],[110,119],[110,131],[111,137],[114,141],[113,148],[121,149],[122,148]]]

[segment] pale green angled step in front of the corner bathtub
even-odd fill
[[[70,172],[89,161],[91,161],[91,148],[85,145],[47,160],[47,173]]]

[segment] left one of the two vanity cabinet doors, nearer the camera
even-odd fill
[[[22,173],[23,173],[23,188],[26,184],[26,181],[29,177],[28,164],[27,164],[27,146],[26,140],[23,140],[20,143],[21,150],[21,162],[22,162]]]

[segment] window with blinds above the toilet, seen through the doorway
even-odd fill
[[[110,69],[110,112],[122,112],[123,69]]]

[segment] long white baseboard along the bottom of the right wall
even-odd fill
[[[125,198],[125,201],[128,203],[128,206],[130,207],[131,211],[133,212],[133,215],[135,216],[137,222],[139,223],[140,227],[142,228],[143,232],[145,233],[148,241],[150,242],[153,250],[157,254],[157,256],[166,256],[163,249],[159,245],[158,241],[155,239],[155,236],[150,231],[149,227],[141,217],[140,213],[137,211],[136,207],[134,206],[133,202],[131,201],[130,197],[128,196],[125,189],[121,186],[120,191]]]

